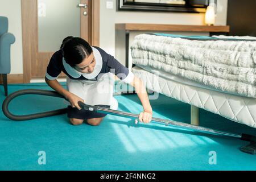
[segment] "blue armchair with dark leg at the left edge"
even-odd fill
[[[5,96],[7,91],[7,74],[11,72],[11,44],[15,42],[15,37],[8,31],[8,19],[0,16],[0,74],[3,77],[3,86],[5,88]]]

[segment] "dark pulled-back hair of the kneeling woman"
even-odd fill
[[[84,39],[68,36],[60,46],[65,61],[74,67],[92,53],[92,47]]]

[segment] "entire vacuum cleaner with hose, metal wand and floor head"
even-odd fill
[[[11,100],[13,100],[15,97],[22,96],[25,94],[36,94],[36,95],[43,95],[43,96],[65,98],[64,96],[57,93],[56,91],[51,91],[51,90],[25,89],[25,90],[16,91],[14,93],[11,93],[9,96],[7,96],[5,101],[3,101],[2,110],[3,110],[3,114],[5,114],[7,118],[15,120],[15,121],[24,121],[24,120],[28,120],[28,119],[49,117],[52,115],[67,113],[67,108],[64,108],[64,109],[46,111],[43,113],[36,113],[36,114],[27,114],[27,115],[12,114],[8,109],[8,106],[9,106]],[[122,94],[122,93],[119,93],[119,94]],[[138,118],[139,117],[139,114],[108,109],[106,107],[86,105],[81,101],[79,101],[78,104],[82,109],[97,112],[97,113],[112,114],[112,115],[117,115],[117,116],[126,117],[126,118]],[[156,122],[156,123],[164,123],[166,126],[171,125],[171,126],[180,127],[183,129],[199,131],[200,133],[206,133],[206,134],[218,135],[218,136],[222,136],[222,137],[231,137],[231,138],[246,140],[247,142],[250,142],[250,144],[248,144],[247,146],[241,147],[240,150],[242,152],[246,152],[248,154],[256,154],[256,137],[254,135],[229,133],[226,131],[209,129],[209,128],[203,127],[203,126],[196,126],[196,125],[191,125],[188,123],[172,121],[170,119],[161,119],[161,118],[153,117],[152,121]]]

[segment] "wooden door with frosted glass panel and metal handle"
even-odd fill
[[[67,36],[98,46],[100,0],[21,1],[23,82],[44,78],[49,59]]]

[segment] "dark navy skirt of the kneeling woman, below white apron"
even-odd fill
[[[108,105],[96,105],[100,107],[110,108]],[[75,119],[92,119],[92,118],[102,118],[105,117],[107,114],[104,113],[97,113],[97,111],[89,111],[85,109],[77,109],[76,107],[68,106],[68,118],[75,118]]]

